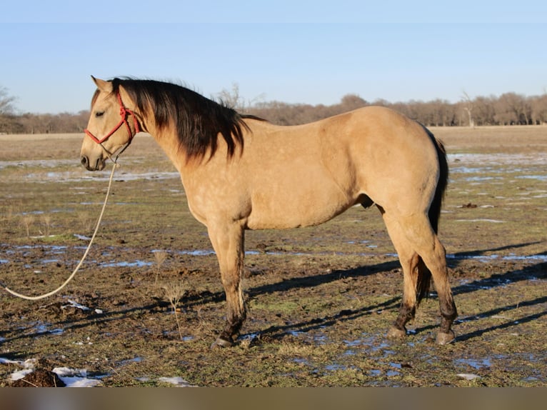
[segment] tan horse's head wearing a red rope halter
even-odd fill
[[[89,171],[100,171],[104,169],[107,158],[131,143],[139,132],[139,122],[134,112],[124,105],[131,100],[121,86],[115,89],[111,81],[91,78],[97,91],[91,101],[91,116],[81,144],[80,158],[81,164]],[[129,116],[133,117],[131,121]]]

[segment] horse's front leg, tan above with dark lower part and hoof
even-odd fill
[[[226,326],[211,348],[231,346],[246,318],[241,288],[244,271],[244,228],[237,222],[211,224],[209,239],[219,259],[222,285],[226,293]]]

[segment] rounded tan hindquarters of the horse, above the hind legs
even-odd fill
[[[331,119],[321,142],[322,160],[352,196],[381,206],[424,211],[439,175],[438,154],[426,129],[403,114],[367,106]],[[328,121],[327,121],[328,124]]]

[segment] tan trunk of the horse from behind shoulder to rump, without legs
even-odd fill
[[[300,126],[252,125],[239,169],[249,183],[251,229],[320,224],[368,198],[428,207],[435,147],[396,111],[370,106]]]

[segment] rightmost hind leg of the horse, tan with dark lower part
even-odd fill
[[[451,326],[458,313],[448,282],[444,246],[438,240],[425,214],[401,217],[398,219],[398,224],[414,251],[421,257],[427,269],[431,271],[441,311],[441,329],[437,335],[437,343],[449,343],[454,339]]]

